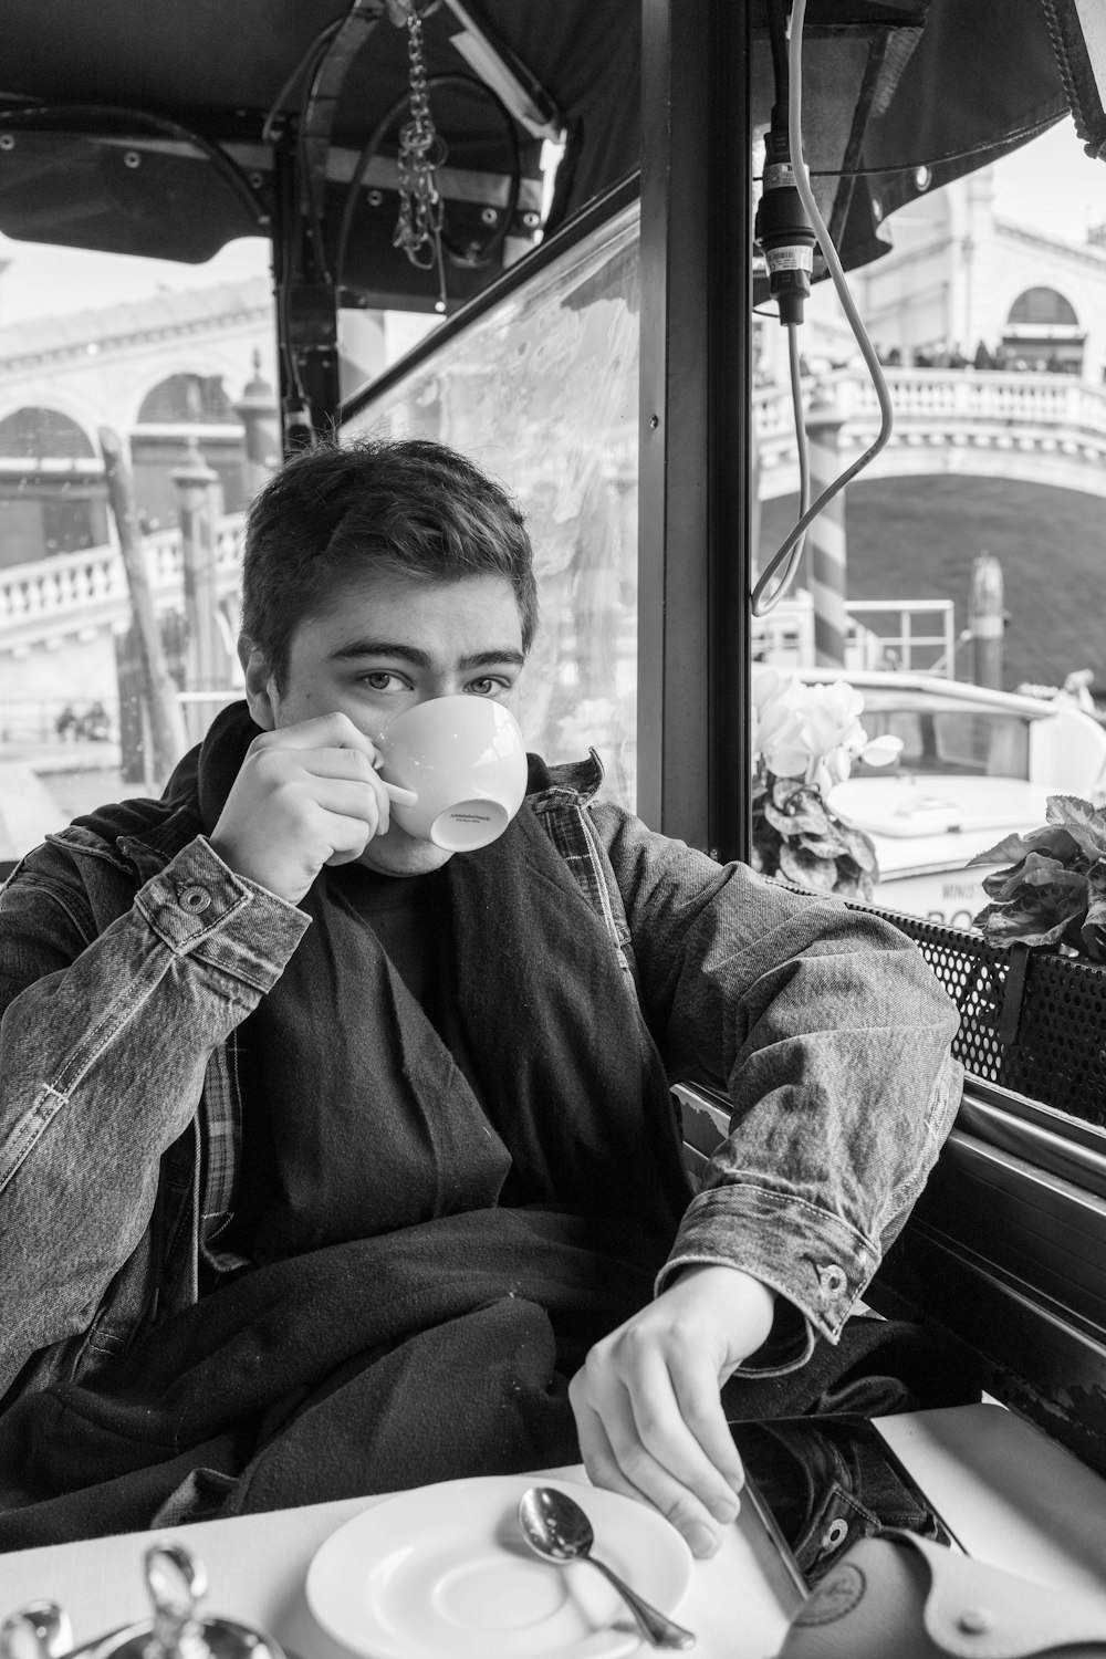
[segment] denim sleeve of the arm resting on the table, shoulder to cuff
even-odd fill
[[[958,1015],[899,929],[592,808],[622,893],[648,1027],[673,1083],[728,1093],[658,1287],[745,1267],[836,1340],[952,1126]]]

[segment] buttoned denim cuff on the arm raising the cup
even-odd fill
[[[310,927],[310,916],[235,874],[202,834],[146,883],[134,904],[174,956],[196,956],[262,994]]]

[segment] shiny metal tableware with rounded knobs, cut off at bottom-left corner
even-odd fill
[[[290,1659],[264,1631],[201,1618],[207,1573],[184,1545],[153,1543],[143,1558],[153,1616],[73,1646],[73,1626],[55,1601],[35,1601],[0,1624],[0,1659]]]

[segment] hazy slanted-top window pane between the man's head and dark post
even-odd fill
[[[413,367],[345,428],[426,436],[521,501],[542,625],[522,727],[549,761],[594,745],[637,795],[638,212],[577,242]]]

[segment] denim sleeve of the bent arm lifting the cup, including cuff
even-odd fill
[[[0,1395],[32,1354],[88,1327],[143,1238],[209,1055],[308,926],[202,836],[144,884],[121,863],[61,836],[0,891]]]

